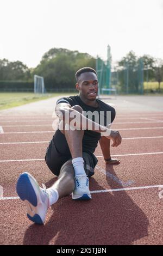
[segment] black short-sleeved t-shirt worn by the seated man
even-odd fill
[[[70,96],[70,97],[61,97],[57,104],[59,103],[69,103],[71,106],[79,105],[83,108],[83,111],[91,111],[92,113],[97,111],[100,115],[99,120],[101,120],[101,117],[103,118],[103,125],[107,126],[112,123],[115,119],[115,109],[108,104],[104,103],[103,101],[96,99],[98,102],[98,107],[92,107],[89,105],[86,105],[81,99],[80,96]],[[108,112],[108,115],[107,115]],[[107,118],[109,117],[110,118]],[[89,118],[89,115],[86,115],[87,118]],[[92,121],[96,121],[96,123],[99,123],[99,121],[95,120],[95,116],[92,115],[90,118]],[[91,152],[93,153],[97,147],[98,141],[101,138],[101,133],[95,132],[95,131],[84,131],[83,136],[83,151],[85,152]]]

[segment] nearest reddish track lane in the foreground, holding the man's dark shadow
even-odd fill
[[[48,209],[44,226],[26,218],[20,200],[0,204],[2,245],[162,245],[156,188],[92,194],[88,202],[62,198]]]

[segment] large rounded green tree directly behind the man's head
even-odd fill
[[[43,54],[33,75],[44,77],[46,88],[74,88],[75,73],[83,66],[95,68],[96,59],[87,53],[70,51],[65,48],[52,48]]]

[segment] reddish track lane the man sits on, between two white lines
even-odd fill
[[[90,190],[109,190],[123,187],[142,187],[163,184],[162,155],[139,155],[118,157],[119,165],[106,165],[103,158],[98,158],[95,175],[90,179]],[[154,159],[154,160],[153,160]],[[15,187],[18,176],[29,172],[42,186],[51,186],[57,179],[48,169],[45,161],[4,162],[0,163],[1,185],[4,187],[3,197],[17,196]],[[131,182],[130,182],[131,181]],[[130,184],[128,186],[128,184]]]

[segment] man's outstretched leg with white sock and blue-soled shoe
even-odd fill
[[[52,187],[41,188],[32,175],[22,173],[18,178],[16,190],[18,196],[26,203],[29,220],[43,224],[48,207],[56,203],[59,198],[71,194],[74,190],[72,160],[63,164],[58,180]]]

